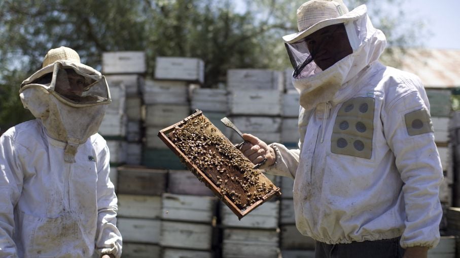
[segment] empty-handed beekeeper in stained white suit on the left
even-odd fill
[[[109,149],[97,134],[111,102],[104,76],[60,47],[19,93],[37,119],[0,138],[0,256],[120,257]]]

